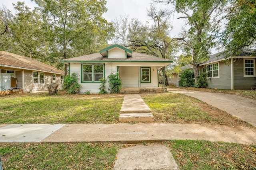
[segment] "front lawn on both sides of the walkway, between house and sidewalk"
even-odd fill
[[[156,122],[249,126],[220,109],[183,94],[141,96]],[[123,97],[95,94],[49,96],[46,93],[1,97],[0,124],[118,123]]]

